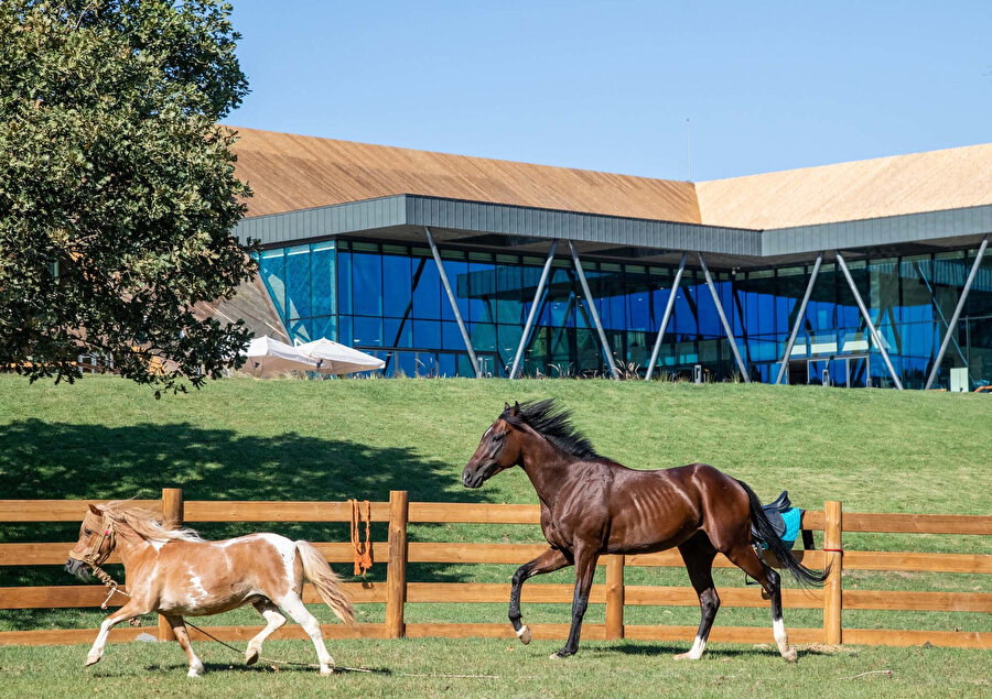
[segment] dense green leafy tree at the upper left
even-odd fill
[[[112,357],[141,383],[217,378],[248,332],[200,320],[254,263],[217,121],[247,94],[215,0],[0,3],[0,364]]]

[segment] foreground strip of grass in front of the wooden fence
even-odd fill
[[[440,638],[331,642],[345,666],[390,674],[343,673],[259,664],[245,668],[220,646],[200,644],[206,673],[185,676],[175,644],[108,646],[104,659],[82,668],[85,648],[0,647],[8,697],[982,697],[992,691],[989,654],[947,648],[858,647],[800,649],[789,665],[769,648],[720,646],[698,663],[671,658],[683,649],[656,643],[587,642],[579,655],[548,659],[551,642],[529,646],[503,640]],[[313,660],[313,646],[271,641],[266,653]],[[877,670],[892,670],[878,673]],[[862,673],[871,673],[856,677]],[[444,677],[482,675],[483,677]]]

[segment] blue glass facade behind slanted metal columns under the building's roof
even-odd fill
[[[975,250],[849,261],[896,371],[923,387]],[[543,259],[442,249],[473,348],[487,374],[505,376],[520,341]],[[427,247],[335,240],[263,251],[260,274],[293,340],[328,337],[387,361],[396,375],[474,375],[455,315]],[[615,361],[644,374],[675,270],[584,261]],[[773,381],[811,265],[713,273],[721,305],[755,381]],[[602,373],[604,359],[570,260],[556,260],[524,356],[527,375]],[[658,373],[713,380],[735,364],[702,273],[686,270]],[[968,367],[970,385],[992,380],[992,255],[969,295],[938,383]],[[887,386],[847,281],[823,264],[788,367],[790,383]]]

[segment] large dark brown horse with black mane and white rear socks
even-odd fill
[[[647,554],[677,546],[699,594],[702,620],[692,648],[676,657],[699,659],[720,607],[712,566],[718,553],[756,579],[772,600],[775,641],[781,657],[796,660],[781,621],[779,575],[752,547],[752,526],[761,540],[800,583],[822,585],[826,574],[797,561],[775,534],[757,495],[745,484],[705,463],[637,471],[597,455],[592,444],[552,401],[506,405],[486,430],[462,483],[478,488],[519,466],[541,501],[541,529],[551,547],[514,574],[509,620],[524,643],[520,587],[537,575],[575,566],[572,627],[552,658],[579,649],[596,560],[603,554]]]

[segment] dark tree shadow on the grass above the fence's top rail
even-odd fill
[[[10,499],[155,499],[163,487],[180,487],[186,500],[382,501],[389,490],[408,490],[410,500],[464,500],[461,463],[333,435],[29,419],[0,426],[0,496]]]

